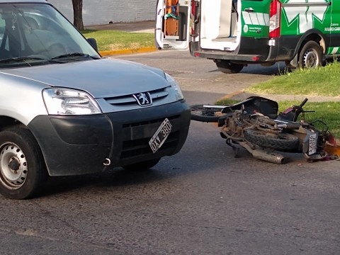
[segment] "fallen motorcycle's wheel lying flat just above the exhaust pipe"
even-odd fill
[[[263,130],[249,129],[244,131],[244,139],[259,147],[276,149],[278,151],[288,152],[299,147],[299,138],[287,133],[271,134]]]

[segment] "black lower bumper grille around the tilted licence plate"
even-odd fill
[[[159,148],[156,153],[162,153],[166,150],[174,149],[178,144],[180,135],[180,115],[172,116],[170,118],[168,117],[168,120],[170,120],[173,129],[162,147]],[[153,154],[152,149],[149,147],[149,140],[163,121],[164,118],[123,125],[123,147],[120,159]]]

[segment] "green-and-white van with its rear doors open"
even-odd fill
[[[159,0],[155,37],[227,74],[278,61],[310,68],[340,54],[339,19],[334,0]]]

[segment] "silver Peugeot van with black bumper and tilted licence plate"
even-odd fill
[[[179,152],[190,109],[162,70],[101,57],[45,0],[0,1],[0,193],[47,176],[149,169]]]

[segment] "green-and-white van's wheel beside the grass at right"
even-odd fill
[[[322,65],[322,48],[314,41],[307,42],[301,49],[299,55],[300,68],[315,68]]]

